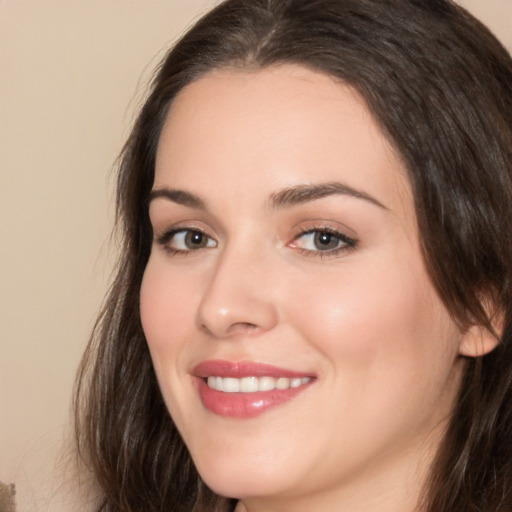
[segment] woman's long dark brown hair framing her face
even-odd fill
[[[448,0],[227,0],[175,45],[120,159],[117,275],[77,380],[79,451],[98,510],[227,511],[163,403],[139,316],[162,124],[187,84],[222,68],[296,63],[365,99],[406,164],[426,265],[461,329],[500,337],[468,359],[422,509],[512,510],[512,60]],[[500,319],[499,322],[496,319]]]

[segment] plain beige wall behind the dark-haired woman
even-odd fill
[[[162,50],[212,3],[0,0],[0,480],[19,512],[72,508],[61,446],[115,252],[110,171]],[[512,0],[461,3],[512,48]]]

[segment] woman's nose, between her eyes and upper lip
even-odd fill
[[[272,329],[278,320],[273,285],[262,258],[235,248],[225,250],[198,308],[200,328],[216,338]]]

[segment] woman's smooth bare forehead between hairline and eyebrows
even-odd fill
[[[174,100],[156,187],[211,192],[226,185],[254,195],[317,181],[347,182],[388,202],[410,196],[399,156],[348,85],[294,65],[222,69]]]

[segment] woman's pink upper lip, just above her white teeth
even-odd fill
[[[193,375],[200,378],[210,376],[233,377],[314,377],[311,373],[298,372],[286,368],[279,368],[265,363],[253,361],[224,361],[220,359],[203,361],[192,370]]]

